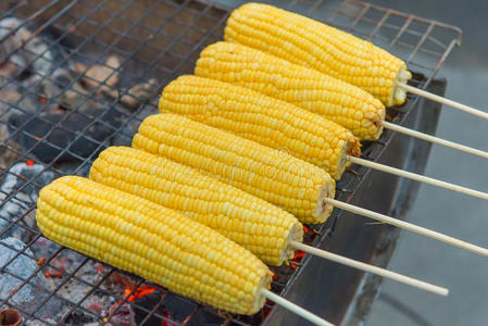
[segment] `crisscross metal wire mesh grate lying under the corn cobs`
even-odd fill
[[[236,5],[239,3],[235,1]],[[453,26],[363,2],[295,0],[283,1],[280,5],[371,39],[401,57],[416,73],[414,84],[418,87],[428,85],[461,38],[461,32]],[[98,152],[111,145],[129,145],[138,124],[157,112],[158,92],[176,76],[191,73],[200,50],[222,39],[229,9],[211,1],[53,0],[4,1],[0,10],[2,21],[16,17],[21,22],[14,29],[1,34],[0,70],[15,55],[27,52],[30,58],[28,66],[14,66],[13,74],[1,74],[2,95],[10,88],[20,91],[14,100],[0,96],[0,128],[8,131],[0,142],[4,158],[0,178],[3,183],[9,178],[15,180],[9,191],[1,188],[0,209],[14,205],[20,213],[0,215],[0,238],[22,235],[26,246],[0,242],[0,248],[13,253],[7,259],[0,258],[0,273],[18,283],[8,296],[0,297],[0,305],[20,310],[23,321],[32,325],[80,325],[82,319],[116,325],[114,316],[117,310],[124,309],[124,303],[136,311],[133,317],[138,325],[201,325],[202,321],[216,325],[260,324],[273,305],[266,304],[254,316],[230,315],[159,287],[150,296],[133,301],[141,289],[154,286],[51,243],[34,223],[36,198],[33,193],[46,184],[45,178],[86,175]],[[23,28],[30,30],[27,41],[24,39],[5,52],[7,40]],[[37,40],[47,47],[33,52],[28,45]],[[110,55],[118,58],[115,66],[109,64]],[[64,67],[70,78],[58,78],[52,71],[36,70],[36,62]],[[108,68],[102,80],[90,75],[89,68],[93,65]],[[117,79],[116,85],[111,82],[112,77]],[[152,84],[145,84],[150,79]],[[57,92],[46,96],[46,85],[51,84]],[[78,84],[91,86],[80,90],[76,87]],[[136,86],[145,91],[137,92]],[[110,96],[104,97],[107,93]],[[66,101],[73,98],[76,104],[67,105]],[[27,101],[35,102],[34,111],[26,109]],[[410,97],[404,106],[389,109],[389,120],[401,124],[415,101],[416,98]],[[85,123],[78,123],[80,121]],[[97,134],[93,129],[103,133]],[[366,143],[363,155],[372,160],[378,158],[387,149],[391,136],[385,133],[375,143]],[[25,162],[24,167],[36,166],[36,173],[26,176],[13,168]],[[338,183],[338,198],[346,201],[352,198],[354,189],[366,177],[365,168],[353,166]],[[337,212],[325,225],[310,227],[305,242],[324,241],[334,229],[336,215]],[[39,253],[35,249],[37,244],[48,249]],[[15,271],[15,262],[21,258],[37,262],[32,273],[20,275]],[[55,261],[66,264],[60,266]],[[275,268],[277,279],[273,281],[273,290],[286,291],[306,261],[305,258]],[[90,276],[93,273],[96,277]],[[45,275],[51,277],[39,284],[36,279]],[[85,290],[70,294],[66,288],[74,284],[83,284]],[[115,284],[125,285],[125,292],[115,291]],[[16,303],[15,296],[23,288],[40,293],[36,304],[25,308]],[[100,297],[120,304],[111,312],[90,308],[92,298]],[[53,302],[64,311],[61,316],[47,318],[42,312],[49,311]],[[171,311],[173,305],[185,306],[185,313],[175,315]]]

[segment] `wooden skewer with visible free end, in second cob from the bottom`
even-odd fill
[[[425,291],[429,291],[429,292],[433,292],[433,293],[436,293],[439,296],[443,296],[443,297],[446,297],[449,293],[449,290],[446,288],[442,288],[442,287],[439,287],[436,285],[431,285],[429,283],[418,280],[418,279],[412,278],[409,276],[404,276],[404,275],[401,275],[401,274],[398,274],[398,273],[395,273],[395,272],[391,272],[391,271],[388,271],[385,268],[380,268],[377,266],[358,262],[358,261],[354,261],[354,260],[345,258],[342,255],[338,255],[338,254],[335,254],[335,253],[331,253],[331,252],[328,252],[328,251],[325,251],[325,250],[322,250],[322,249],[318,249],[318,248],[315,248],[312,246],[308,246],[308,244],[292,241],[292,240],[289,243],[291,246],[293,246],[295,248],[297,248],[298,250],[309,252],[316,256],[320,256],[320,258],[323,258],[323,259],[326,259],[326,260],[329,260],[329,261],[333,261],[333,262],[336,262],[336,263],[339,263],[339,264],[342,264],[346,266],[358,268],[358,269],[361,269],[361,271],[364,271],[367,273],[373,273],[373,274],[379,275],[381,277],[388,277],[388,278],[395,279],[397,281],[423,289]]]

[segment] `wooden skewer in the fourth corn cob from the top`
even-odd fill
[[[422,226],[417,226],[417,225],[414,225],[414,224],[411,224],[411,223],[408,223],[408,222],[404,222],[404,221],[401,221],[398,218],[393,218],[393,217],[390,217],[390,216],[387,216],[387,215],[384,215],[380,213],[376,213],[376,212],[373,212],[373,211],[370,211],[366,209],[358,208],[355,205],[351,205],[351,204],[348,204],[346,202],[338,201],[335,199],[326,198],[326,199],[324,199],[324,201],[326,201],[327,203],[329,203],[333,206],[336,206],[338,209],[341,209],[341,210],[345,210],[345,211],[348,211],[348,212],[351,212],[351,213],[354,213],[358,215],[366,216],[366,217],[370,217],[370,218],[373,218],[373,220],[376,220],[376,221],[379,221],[379,222],[383,222],[386,224],[390,224],[390,225],[393,225],[397,227],[401,227],[409,231],[412,231],[412,233],[415,233],[415,234],[418,234],[422,236],[426,236],[426,237],[442,241],[445,243],[449,243],[449,244],[459,247],[461,249],[465,249],[471,252],[478,253],[480,255],[488,256],[488,249],[465,242],[463,240],[459,240],[456,238],[452,238],[452,237],[442,235],[440,233],[430,230],[428,228],[424,228]]]

